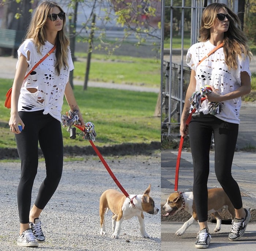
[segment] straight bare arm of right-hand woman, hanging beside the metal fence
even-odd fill
[[[181,137],[185,137],[186,135],[188,135],[188,126],[186,125],[186,121],[187,121],[187,118],[189,116],[189,111],[190,111],[189,98],[192,96],[192,94],[196,90],[196,78],[195,78],[195,76],[196,76],[196,72],[194,70],[191,70],[190,82],[189,82],[188,90],[187,90],[186,97],[185,97],[185,104],[184,104],[183,111],[182,111],[182,114],[181,114],[181,122],[180,122]]]

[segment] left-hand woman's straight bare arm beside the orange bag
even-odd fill
[[[22,129],[24,129],[24,123],[20,119],[18,114],[18,100],[20,95],[20,89],[22,87],[22,83],[27,71],[27,67],[29,64],[27,63],[27,58],[24,55],[20,55],[18,60],[18,66],[15,72],[14,82],[12,84],[12,95],[11,95],[11,115],[9,120],[10,130],[16,134],[20,133],[18,128],[18,124],[22,125]]]

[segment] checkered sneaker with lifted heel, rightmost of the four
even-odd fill
[[[249,212],[249,210],[244,210],[246,213],[245,219],[234,218],[234,220],[232,221],[232,227],[229,233],[229,240],[239,240],[244,235],[246,226],[251,219],[251,213]]]

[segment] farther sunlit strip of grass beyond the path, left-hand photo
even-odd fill
[[[86,53],[76,53],[74,77],[84,80]],[[160,60],[92,54],[90,81],[160,88]]]

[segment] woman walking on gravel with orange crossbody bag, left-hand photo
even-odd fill
[[[64,95],[71,110],[79,110],[69,83],[69,71],[74,69],[74,65],[65,35],[65,21],[65,13],[57,3],[42,2],[31,19],[26,40],[18,49],[9,122],[21,160],[17,193],[20,219],[18,246],[37,247],[38,243],[45,241],[39,216],[61,179],[61,107]],[[54,45],[56,49],[24,80],[26,73]],[[83,125],[80,111],[78,115]],[[19,124],[22,130],[19,130]],[[45,158],[46,178],[30,210],[38,167],[38,142]]]

